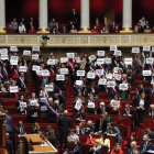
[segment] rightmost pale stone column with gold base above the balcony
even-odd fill
[[[122,31],[132,32],[132,0],[123,0]]]

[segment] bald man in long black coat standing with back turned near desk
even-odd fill
[[[69,133],[69,128],[72,128],[72,120],[69,117],[67,117],[68,111],[65,110],[64,114],[59,117],[58,119],[58,127],[59,127],[59,143],[61,143],[61,150],[63,148],[63,143],[65,144],[65,148],[66,148],[66,144],[67,144],[67,136]]]

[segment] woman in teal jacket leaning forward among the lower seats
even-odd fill
[[[123,142],[123,140],[120,136],[120,131],[117,127],[114,127],[113,122],[109,123],[109,127],[107,127],[107,135],[117,136],[119,143]]]

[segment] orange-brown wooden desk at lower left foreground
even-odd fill
[[[19,154],[55,154],[57,150],[45,139],[48,146],[40,146],[42,139],[40,134],[19,135],[20,152]]]

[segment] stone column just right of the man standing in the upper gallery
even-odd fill
[[[89,0],[80,0],[80,31],[79,33],[90,33],[90,4]]]

